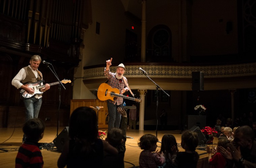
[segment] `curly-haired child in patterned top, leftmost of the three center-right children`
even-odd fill
[[[140,168],[157,168],[157,166],[162,166],[165,163],[164,154],[158,151],[154,153],[157,149],[158,138],[151,134],[145,134],[139,140],[138,145],[143,150],[139,157]]]

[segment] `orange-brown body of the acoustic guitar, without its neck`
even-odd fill
[[[115,96],[112,96],[110,94],[111,92],[119,94],[119,90],[117,88],[112,88],[107,83],[102,83],[101,85],[99,85],[99,88],[98,88],[98,92],[97,92],[98,99],[102,101],[105,101],[108,99],[114,101]]]

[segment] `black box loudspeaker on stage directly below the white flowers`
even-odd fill
[[[200,129],[206,126],[206,116],[187,115],[186,116],[187,128],[197,126]]]

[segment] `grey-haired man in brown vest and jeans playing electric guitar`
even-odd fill
[[[12,79],[11,84],[17,89],[24,89],[28,94],[34,94],[35,90],[32,87],[24,85],[23,83],[35,83],[42,80],[42,73],[37,69],[40,62],[41,57],[39,55],[33,55],[29,61],[30,65],[22,68]],[[40,91],[44,92],[48,89],[50,89],[50,85],[46,84],[44,88],[40,89]],[[36,94],[31,98],[24,99],[23,101],[26,109],[26,121],[30,118],[37,118],[42,104],[42,95]],[[22,139],[22,142],[24,141],[26,141],[25,134],[23,135]]]

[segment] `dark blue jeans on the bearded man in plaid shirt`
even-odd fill
[[[123,104],[116,105],[108,101],[108,112],[109,112],[109,128],[110,130],[113,127],[119,128],[121,122],[121,114],[117,112],[117,108],[123,107]]]

